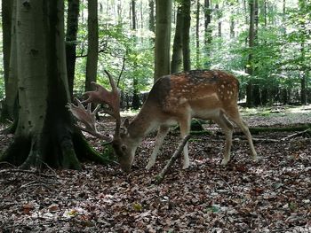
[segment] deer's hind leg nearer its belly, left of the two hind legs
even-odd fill
[[[220,112],[219,117],[213,119],[219,127],[224,131],[226,136],[226,145],[224,152],[224,159],[221,161],[221,165],[227,165],[227,162],[230,161],[230,152],[232,146],[232,134],[233,134],[233,126],[229,120],[225,117],[224,113]]]

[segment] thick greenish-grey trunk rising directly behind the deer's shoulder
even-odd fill
[[[155,82],[170,74],[171,0],[156,0]]]

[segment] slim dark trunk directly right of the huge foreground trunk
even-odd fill
[[[67,34],[66,34],[66,63],[70,97],[74,92],[76,67],[76,35],[78,30],[80,0],[68,0]]]

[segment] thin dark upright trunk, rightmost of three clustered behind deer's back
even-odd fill
[[[191,69],[190,62],[190,0],[182,1],[182,16],[183,16],[183,29],[182,29],[182,57],[184,71],[189,71]]]

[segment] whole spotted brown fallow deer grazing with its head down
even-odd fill
[[[87,91],[86,100],[77,105],[68,104],[68,109],[77,120],[84,124],[82,130],[112,143],[120,167],[125,172],[132,168],[135,151],[151,131],[157,130],[156,144],[148,160],[147,169],[156,163],[156,156],[165,136],[172,125],[179,125],[180,136],[183,138],[190,132],[192,118],[213,120],[222,129],[226,144],[221,165],[230,160],[233,121],[246,136],[251,148],[251,158],[258,160],[250,130],[242,119],[238,109],[239,82],[233,74],[220,70],[192,70],[179,74],[168,74],[159,78],[150,90],[147,100],[140,113],[130,122],[124,120],[121,128],[120,92],[111,74],[108,75],[111,90],[93,82],[96,89]],[[116,120],[114,136],[103,135],[96,129],[95,115],[99,109],[91,110],[91,103],[108,105],[103,113],[108,113]],[[88,107],[84,108],[84,104]],[[183,168],[189,167],[187,144],[183,148]]]

